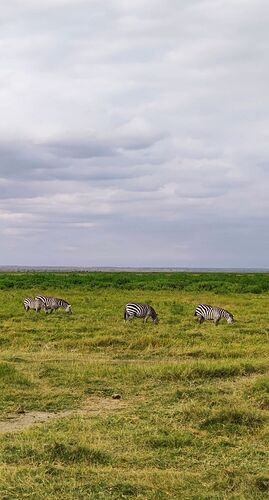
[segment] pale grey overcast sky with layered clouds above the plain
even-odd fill
[[[0,265],[269,267],[267,0],[10,0]]]

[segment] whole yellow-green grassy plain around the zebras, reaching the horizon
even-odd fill
[[[0,324],[1,500],[268,498],[267,274],[1,273]]]

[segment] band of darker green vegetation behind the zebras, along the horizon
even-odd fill
[[[103,288],[126,290],[177,290],[213,293],[264,293],[269,291],[269,274],[239,273],[0,273],[0,289],[95,290]]]

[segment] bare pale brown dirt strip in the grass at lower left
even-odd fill
[[[46,423],[50,420],[57,420],[64,417],[90,417],[110,412],[117,412],[126,408],[126,402],[109,398],[89,398],[80,409],[63,410],[59,412],[49,411],[29,411],[18,415],[11,413],[6,420],[0,421],[0,433],[19,432],[32,425]]]

